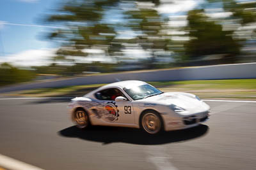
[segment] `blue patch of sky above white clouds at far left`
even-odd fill
[[[0,55],[51,48],[49,41],[39,36],[45,27],[40,27],[38,20],[55,3],[56,0],[1,0]]]

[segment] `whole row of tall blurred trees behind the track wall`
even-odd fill
[[[129,7],[120,6],[124,3],[129,4]],[[147,3],[150,6],[147,6]],[[64,1],[61,6],[58,6],[54,14],[45,19],[50,24],[61,27],[48,35],[49,39],[60,43],[54,61],[74,62],[70,56],[87,57],[90,54],[84,52],[83,49],[90,48],[102,50],[105,55],[110,57],[120,57],[124,55],[122,50],[125,47],[136,44],[135,48],[143,48],[151,56],[144,63],[147,68],[159,67],[156,64],[156,59],[161,52],[175,52],[175,55],[170,57],[174,57],[178,62],[199,60],[204,55],[219,54],[224,56],[225,60],[234,62],[240,54],[243,39],[238,39],[238,36],[235,39],[234,32],[236,30],[225,31],[223,25],[246,25],[256,21],[255,2],[238,3],[236,0],[207,0],[205,1],[205,8],[208,4],[213,4],[213,6],[223,8],[224,11],[231,12],[231,16],[213,19],[205,15],[204,9],[191,10],[188,12],[188,27],[177,29],[170,27],[167,24],[168,17],[164,17],[156,10],[157,6],[164,5],[164,3],[170,2],[160,0]],[[114,22],[113,24],[108,18],[104,18],[107,11],[116,9],[123,11],[125,22],[118,24]],[[135,38],[116,39],[119,36],[118,31],[131,29],[136,32]],[[171,41],[171,37],[175,35],[168,34],[168,32],[172,32],[170,29],[174,32],[177,30],[184,31],[184,35],[178,36],[189,36],[190,40]],[[67,56],[69,59],[66,58]],[[97,57],[97,55],[93,56]],[[77,64],[77,67],[80,68],[82,65]],[[105,66],[109,67],[106,64]],[[56,73],[65,74],[67,71],[79,72],[74,67],[68,67],[64,70],[54,66],[53,70],[56,70]],[[86,69],[79,70],[81,72],[81,70]],[[113,68],[106,70],[113,70]]]

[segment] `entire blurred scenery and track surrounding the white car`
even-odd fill
[[[254,0],[1,0],[0,169],[255,169],[255,73]],[[211,119],[76,129],[70,99],[120,80],[195,94]]]

